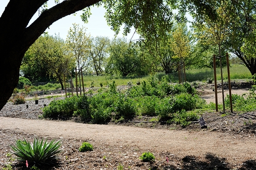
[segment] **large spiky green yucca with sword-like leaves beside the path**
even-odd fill
[[[24,141],[16,140],[16,146],[11,146],[11,148],[14,151],[13,154],[21,162],[28,161],[28,164],[32,166],[50,165],[56,164],[57,154],[61,152],[59,150],[60,140],[54,142],[55,140],[47,142],[47,139],[45,142],[43,139],[34,139],[33,143],[29,143],[25,139]]]

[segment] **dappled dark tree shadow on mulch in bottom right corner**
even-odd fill
[[[150,170],[234,170],[234,168],[237,170],[256,170],[255,160],[245,161],[237,167],[237,165],[227,163],[226,158],[217,157],[212,153],[207,153],[204,158],[187,155],[180,161],[169,164],[159,167],[154,164]]]

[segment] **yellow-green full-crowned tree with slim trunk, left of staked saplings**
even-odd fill
[[[44,35],[32,44],[28,53],[46,68],[48,75],[58,79],[64,90],[63,76],[74,67],[74,58],[67,54],[65,41],[58,36]]]

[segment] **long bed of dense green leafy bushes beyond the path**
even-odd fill
[[[43,109],[43,117],[80,116],[83,120],[104,123],[111,119],[123,120],[135,115],[148,115],[171,119],[185,125],[177,121],[177,115],[181,115],[182,118],[184,113],[181,111],[202,108],[204,105],[205,100],[195,94],[195,89],[188,83],[170,85],[152,78],[125,91],[117,91],[113,81],[108,89],[100,90],[93,96],[73,96],[65,100],[54,100]],[[195,116],[184,120],[194,119]]]

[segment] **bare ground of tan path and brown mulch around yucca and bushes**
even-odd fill
[[[212,93],[211,89],[205,91],[202,95]],[[47,170],[121,170],[121,166],[124,170],[256,170],[256,112],[226,116],[203,113],[207,128],[201,129],[198,123],[184,128],[149,122],[152,117],[141,116],[133,122],[106,125],[39,120],[42,100],[39,105],[31,103],[28,109],[25,105],[5,107],[0,111],[0,169],[10,163],[13,170],[27,169],[25,163],[8,157],[9,145],[17,139],[44,137],[61,140],[63,150],[58,166],[43,168]],[[92,152],[78,152],[84,141],[93,144]],[[139,159],[148,151],[156,157],[152,163]]]

